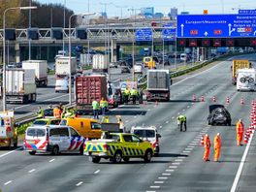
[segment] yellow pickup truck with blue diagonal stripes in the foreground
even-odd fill
[[[151,161],[153,148],[134,134],[110,133],[103,139],[85,143],[84,154],[91,157],[93,163],[99,163],[101,158],[110,159],[112,163],[128,162],[130,158],[143,158]]]

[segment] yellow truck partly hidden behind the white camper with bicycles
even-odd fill
[[[239,69],[249,69],[251,68],[251,63],[249,60],[233,60],[231,70],[232,70],[232,84],[237,84],[238,70]]]

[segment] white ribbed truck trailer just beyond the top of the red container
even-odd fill
[[[94,54],[92,57],[92,72],[108,73],[108,55]]]

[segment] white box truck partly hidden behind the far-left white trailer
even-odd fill
[[[22,61],[22,69],[34,69],[37,86],[48,86],[48,61],[27,60]]]

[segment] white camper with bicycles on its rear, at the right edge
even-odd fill
[[[237,76],[238,91],[255,91],[256,90],[256,70],[239,69]]]

